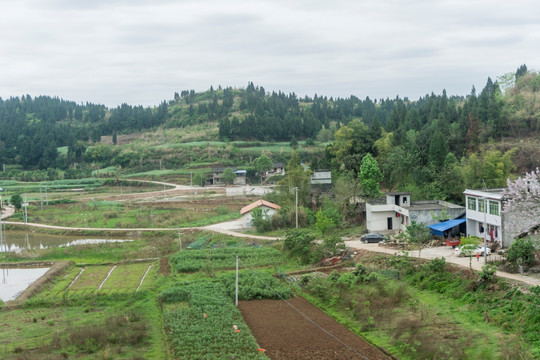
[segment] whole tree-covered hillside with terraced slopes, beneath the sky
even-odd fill
[[[467,96],[443,90],[416,101],[299,98],[253,83],[185,90],[155,108],[0,99],[1,176],[167,175],[185,183],[219,164],[246,167],[254,179],[255,158],[286,163],[296,149],[312,169],[354,179],[369,153],[385,188],[459,201],[463,187],[481,187],[482,180],[504,186],[512,173],[540,165],[540,75],[522,65],[501,83],[488,78],[479,94],[474,87]]]

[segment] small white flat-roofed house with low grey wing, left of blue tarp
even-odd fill
[[[440,220],[459,218],[464,213],[463,206],[446,201],[411,202],[410,193],[390,192],[384,199],[366,204],[366,226],[369,232],[392,234],[407,230],[413,221],[428,226]]]

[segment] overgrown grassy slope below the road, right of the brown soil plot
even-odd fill
[[[500,301],[508,288],[502,281],[482,282],[467,271],[446,268],[441,259],[423,264],[407,257],[374,258],[352,272],[306,278],[300,282],[301,293],[399,358],[536,356],[534,314],[540,304],[535,304],[534,296],[510,300],[506,304],[522,310],[509,312]],[[506,319],[494,319],[488,308],[495,304],[500,304],[493,308],[496,314],[504,312]],[[529,315],[523,317],[523,312]]]

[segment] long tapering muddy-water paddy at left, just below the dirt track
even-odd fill
[[[25,231],[5,231],[0,241],[0,252],[19,252],[30,249],[47,249],[50,247],[102,244],[110,242],[133,241],[131,239],[85,238],[80,236],[51,235],[28,233]]]

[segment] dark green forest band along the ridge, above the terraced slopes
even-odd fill
[[[0,99],[0,163],[62,168],[84,149],[81,143],[97,142],[102,135],[116,139],[117,134],[206,122],[219,124],[221,140],[329,141],[336,134],[339,141],[350,131],[349,150],[342,155],[352,164],[366,152],[385,151],[383,140],[393,147],[412,146],[426,162],[437,152],[439,158],[448,153],[460,158],[483,143],[538,134],[540,75],[522,66],[512,76],[504,94],[488,79],[479,93],[473,88],[467,96],[449,97],[443,91],[415,101],[298,98],[294,93],[268,93],[253,83],[245,89],[182,91],[155,108],[123,104],[107,109],[48,96]],[[351,126],[337,133],[344,125]],[[65,164],[57,158],[56,149],[62,146],[68,147]],[[430,147],[433,152],[426,150]]]

